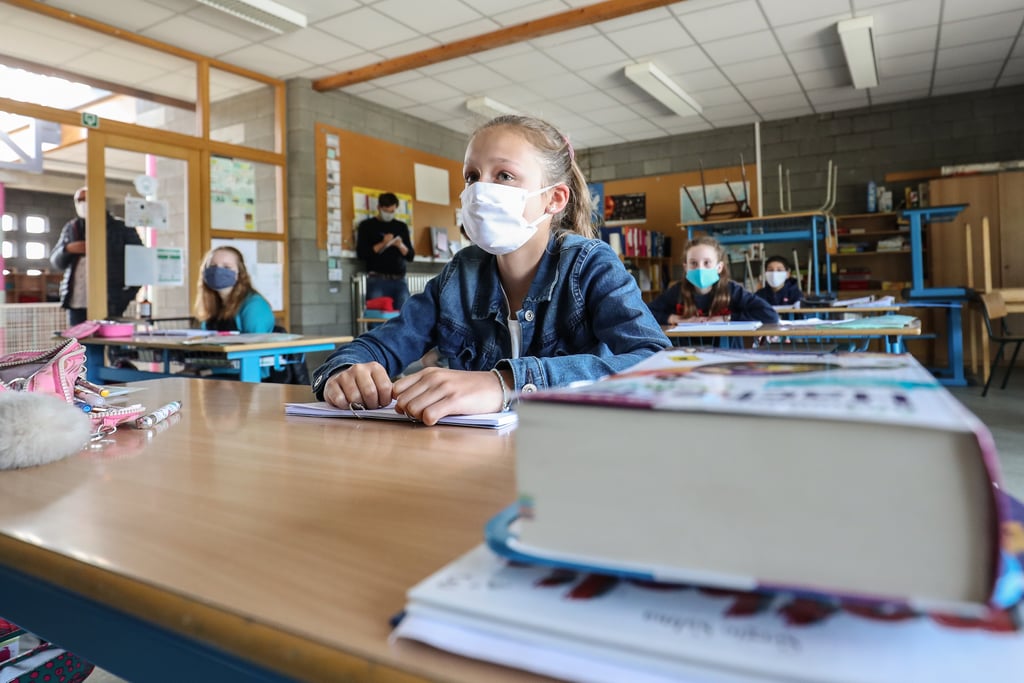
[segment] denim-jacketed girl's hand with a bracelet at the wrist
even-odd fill
[[[426,368],[394,383],[394,410],[435,425],[449,415],[498,413],[502,385],[490,372]]]

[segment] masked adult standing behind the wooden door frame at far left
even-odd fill
[[[85,251],[85,219],[88,204],[85,187],[75,190],[77,217],[68,221],[50,252],[50,263],[63,270],[60,281],[60,305],[68,309],[68,325],[84,323],[88,306],[86,288],[89,282],[88,256]],[[120,218],[106,213],[106,313],[101,317],[117,317],[124,313],[135,298],[138,287],[125,287],[125,245],[141,245],[138,231],[125,225]]]

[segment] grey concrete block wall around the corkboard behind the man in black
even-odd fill
[[[354,334],[351,275],[362,269],[342,259],[344,281],[327,280],[327,252],[316,248],[316,166],[314,124],[324,123],[361,135],[462,160],[468,135],[400,114],[340,91],[316,92],[307,79],[287,84],[288,101],[288,248],[291,261],[290,329],[303,334]],[[345,160],[341,160],[342,173]],[[439,269],[413,262],[411,272]]]

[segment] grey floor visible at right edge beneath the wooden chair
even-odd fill
[[[1011,377],[1008,388],[998,388],[997,382],[1001,381],[1000,372],[985,397],[981,396],[980,387],[953,387],[950,391],[992,431],[1007,489],[1024,498],[1024,368]],[[96,670],[88,683],[124,683],[124,680]]]

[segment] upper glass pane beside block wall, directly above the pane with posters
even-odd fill
[[[210,69],[210,139],[273,152],[273,87]]]

